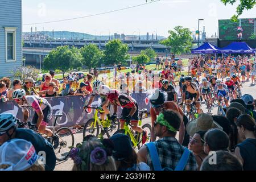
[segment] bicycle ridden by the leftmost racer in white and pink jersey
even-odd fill
[[[55,151],[56,160],[58,161],[66,160],[69,157],[69,152],[73,148],[74,142],[75,142],[74,135],[68,127],[61,127],[60,129],[55,131],[57,119],[62,116],[63,116],[62,113],[52,115],[52,117],[55,117],[53,126],[46,127],[47,129],[51,129],[53,135],[57,135],[59,140],[56,141],[56,140],[53,140],[53,137],[47,137],[46,135],[41,134],[42,137],[46,138],[49,141],[49,143],[52,144],[53,149]],[[19,120],[17,122],[17,127],[31,129],[36,132],[38,130],[36,128],[36,124],[32,124],[31,122],[20,122]]]

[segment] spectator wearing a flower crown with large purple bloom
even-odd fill
[[[73,171],[116,171],[112,157],[113,144],[109,139],[102,143],[92,135],[72,148],[69,156],[74,162]]]

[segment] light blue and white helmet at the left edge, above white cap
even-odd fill
[[[8,131],[16,126],[16,118],[11,113],[0,114],[0,132]]]

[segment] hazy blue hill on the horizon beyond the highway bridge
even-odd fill
[[[30,32],[23,32],[22,33],[23,36],[24,35],[30,35]],[[44,37],[48,37],[48,38],[51,38],[51,39],[95,39],[95,35],[90,35],[90,34],[85,34],[85,33],[80,33],[80,32],[69,32],[69,31],[55,31],[54,32],[54,37],[53,37],[53,34],[52,34],[52,31],[40,31],[40,32],[37,32],[38,35],[40,36],[44,36]],[[32,32],[32,35],[35,35],[35,32]],[[114,35],[110,35],[111,38],[114,38]],[[126,36],[132,36],[132,35],[126,35]],[[139,35],[134,35],[134,36],[137,36],[137,39],[139,38]],[[150,39],[152,37],[149,36]],[[141,40],[146,40],[147,36],[146,35],[141,35]],[[154,38],[155,38],[155,35],[154,35]],[[97,39],[106,39],[108,40],[109,39],[109,35],[97,35]],[[161,40],[161,39],[166,39],[164,36],[158,36],[158,40]]]

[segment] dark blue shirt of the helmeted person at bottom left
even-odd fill
[[[51,143],[33,130],[16,129],[15,138],[31,142],[35,147],[36,154],[40,151],[46,152],[46,171],[53,171],[56,166],[56,156]]]

